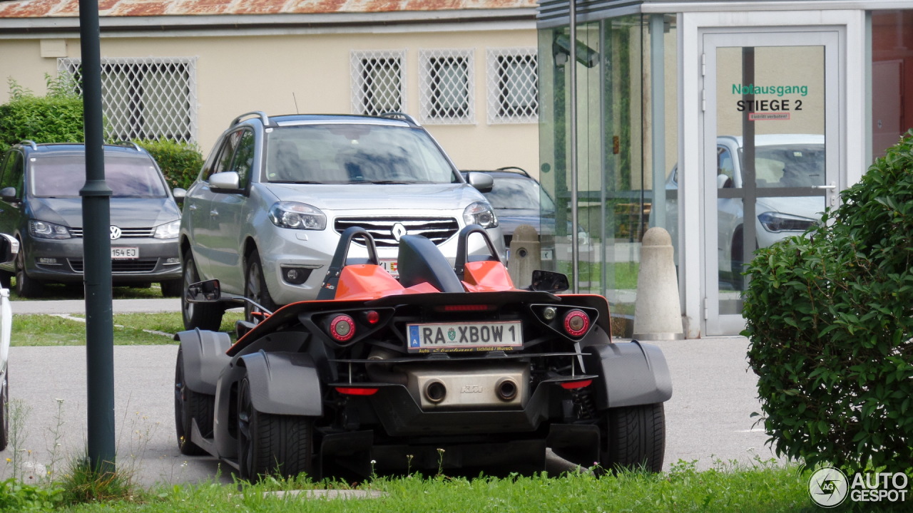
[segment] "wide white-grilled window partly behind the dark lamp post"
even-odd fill
[[[82,61],[58,58],[82,94]],[[102,58],[101,110],[113,141],[196,141],[196,58]]]

